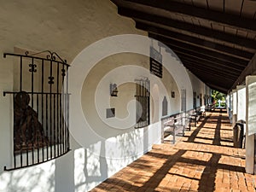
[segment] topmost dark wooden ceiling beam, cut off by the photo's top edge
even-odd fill
[[[126,0],[127,1],[127,0]],[[197,17],[204,20],[222,23],[227,26],[235,26],[243,30],[256,31],[255,20],[243,18],[240,15],[231,15],[224,12],[203,9],[191,6],[187,3],[178,3],[170,0],[128,0],[128,2],[140,3],[152,8],[163,9],[182,15]],[[148,9],[148,8],[145,8]]]

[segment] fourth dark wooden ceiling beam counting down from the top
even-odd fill
[[[230,55],[224,55],[224,54],[221,54],[216,51],[209,50],[209,49],[203,49],[201,47],[198,47],[198,46],[195,46],[192,44],[185,44],[183,42],[179,42],[179,41],[171,39],[171,38],[164,38],[164,37],[160,37],[158,35],[154,35],[151,33],[148,33],[148,37],[157,39],[160,42],[162,42],[163,44],[172,44],[172,46],[176,46],[176,47],[179,47],[182,49],[187,49],[189,51],[192,51],[195,53],[200,53],[202,55],[209,55],[213,58],[217,58],[222,61],[229,61],[229,62],[232,62],[235,64],[239,64],[241,66],[247,66],[247,64],[248,64],[248,61],[241,60],[241,59],[238,59],[238,58],[230,56]]]

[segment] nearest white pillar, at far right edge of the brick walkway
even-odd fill
[[[246,79],[246,172],[254,172],[254,135],[256,133],[256,76]]]

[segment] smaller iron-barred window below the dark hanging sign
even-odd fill
[[[150,83],[147,78],[136,79],[136,125],[141,128],[150,123]]]

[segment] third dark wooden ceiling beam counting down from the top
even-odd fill
[[[247,52],[247,51],[244,51],[244,50],[230,48],[229,46],[225,46],[225,45],[222,45],[222,44],[215,44],[215,43],[212,43],[210,41],[207,41],[207,40],[204,40],[204,39],[201,39],[201,38],[195,38],[195,37],[185,35],[185,34],[182,34],[182,33],[172,32],[170,30],[166,30],[166,29],[161,28],[161,27],[149,26],[149,25],[147,25],[143,22],[137,21],[136,26],[137,26],[138,29],[147,31],[151,34],[154,33],[154,34],[157,34],[158,36],[172,38],[172,39],[175,39],[177,41],[187,42],[189,44],[196,44],[198,46],[206,47],[206,48],[212,49],[212,50],[216,50],[219,53],[232,55],[232,56],[235,56],[237,58],[241,58],[241,59],[246,60],[246,61],[250,61],[251,58],[253,57],[253,53],[250,53],[250,52]]]

